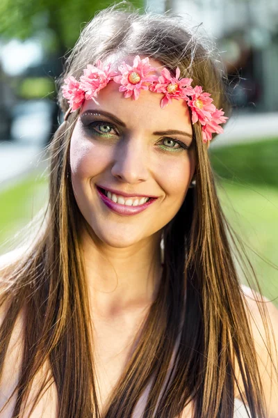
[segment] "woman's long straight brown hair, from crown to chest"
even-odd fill
[[[61,79],[79,77],[88,63],[111,54],[152,56],[169,70],[179,65],[182,77],[191,77],[193,85],[203,86],[215,106],[229,114],[223,68],[213,45],[197,33],[177,16],[140,15],[129,7],[112,6],[85,26]],[[59,102],[67,111],[61,94]],[[1,304],[5,302],[8,308],[0,331],[0,373],[17,316],[22,309],[25,315],[24,354],[13,418],[19,416],[35,373],[47,359],[58,390],[58,416],[100,417],[79,237],[82,216],[70,181],[70,139],[77,117],[78,112],[70,114],[51,142],[49,204],[40,234],[28,254],[2,272]],[[197,123],[193,132],[197,184],[188,189],[179,212],[163,229],[161,285],[111,395],[106,418],[131,417],[151,377],[154,380],[142,417],[178,417],[185,405],[194,401],[193,418],[232,418],[238,386],[235,362],[244,385],[240,394],[251,417],[265,416],[252,332],[235,267],[236,248],[239,261],[244,250],[220,208]],[[180,323],[175,368],[163,389]],[[49,380],[42,385],[34,406],[47,384]]]

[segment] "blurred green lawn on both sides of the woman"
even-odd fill
[[[218,195],[229,222],[246,243],[263,294],[278,296],[278,138],[209,149]],[[0,252],[47,201],[47,180],[29,173],[0,190]],[[255,252],[254,252],[255,251]],[[258,255],[256,255],[256,253]],[[278,305],[278,300],[277,300]]]

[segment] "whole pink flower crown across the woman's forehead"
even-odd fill
[[[161,108],[172,102],[172,99],[185,100],[191,109],[192,123],[199,121],[202,125],[203,141],[210,141],[213,132],[221,134],[223,131],[221,123],[226,123],[227,116],[222,109],[216,109],[212,103],[211,94],[204,93],[201,86],[190,86],[193,79],[179,78],[181,71],[176,69],[176,77],[172,77],[167,68],[163,68],[161,75],[149,75],[149,72],[156,71],[149,64],[149,58],[140,59],[136,56],[133,60],[133,66],[122,63],[118,67],[118,72],[111,70],[111,64],[104,67],[100,60],[97,65],[87,65],[83,70],[83,75],[79,82],[72,76],[65,79],[62,86],[63,96],[67,99],[70,112],[79,109],[85,100],[96,100],[101,88],[104,88],[108,82],[121,84],[119,91],[124,92],[125,98],[133,96],[137,100],[140,90],[149,90],[155,93],[163,93]]]

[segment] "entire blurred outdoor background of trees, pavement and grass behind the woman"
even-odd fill
[[[97,10],[111,1],[1,0],[0,254],[47,201],[44,147],[58,127],[55,79]],[[234,112],[210,147],[222,207],[263,293],[278,296],[278,2],[138,0],[200,25],[220,51]]]

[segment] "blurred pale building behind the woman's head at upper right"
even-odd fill
[[[234,80],[238,107],[278,111],[277,0],[147,0],[146,6],[179,13],[192,26],[203,23]]]

